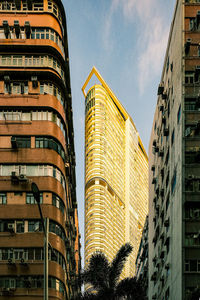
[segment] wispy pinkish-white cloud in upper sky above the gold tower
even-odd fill
[[[138,84],[140,94],[159,75],[167,45],[169,22],[157,0],[112,0],[105,27],[105,45],[112,45],[111,29],[115,11],[121,10],[126,22],[137,26]],[[135,25],[136,24],[136,25]]]

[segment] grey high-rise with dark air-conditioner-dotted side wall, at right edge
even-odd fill
[[[200,280],[200,2],[176,1],[150,159],[149,299],[186,300]]]

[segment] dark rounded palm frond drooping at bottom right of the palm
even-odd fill
[[[121,280],[116,287],[115,295],[126,296],[129,300],[147,300],[142,284],[135,277]]]

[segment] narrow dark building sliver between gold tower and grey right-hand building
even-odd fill
[[[148,216],[144,224],[142,238],[140,241],[140,246],[138,250],[138,255],[136,259],[136,278],[139,280],[143,286],[146,295],[148,295],[148,234],[149,234],[149,220]]]

